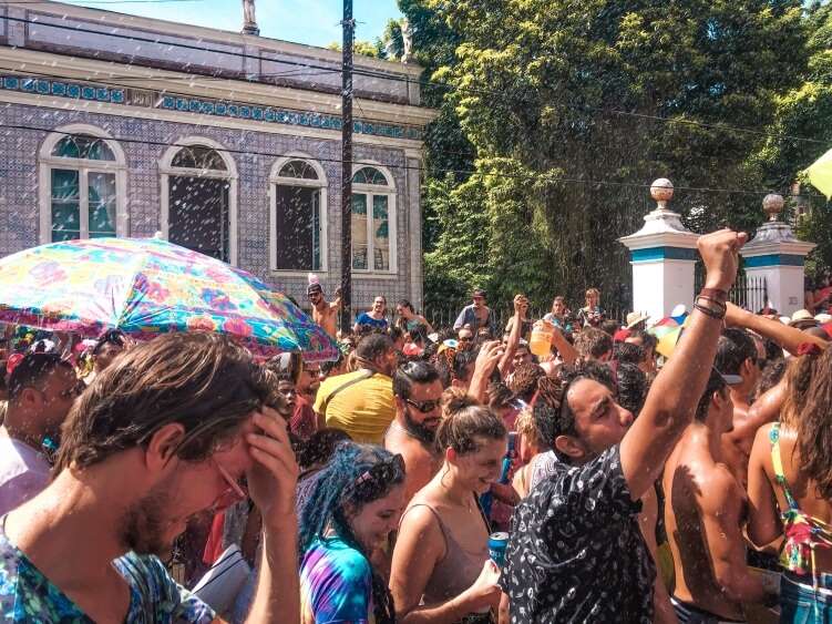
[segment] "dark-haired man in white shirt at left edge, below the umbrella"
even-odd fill
[[[47,487],[51,467],[43,452],[84,385],[58,354],[28,354],[9,377],[9,407],[0,427],[0,515]]]

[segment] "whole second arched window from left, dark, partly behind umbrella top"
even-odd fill
[[[234,264],[236,172],[227,152],[208,139],[179,140],[160,170],[166,238]]]

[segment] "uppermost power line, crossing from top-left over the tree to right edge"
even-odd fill
[[[43,21],[39,21],[39,20],[28,20],[28,19],[24,19],[24,18],[12,18],[12,17],[9,17],[9,16],[4,16],[2,19],[11,20],[11,21],[18,21],[18,22],[22,22],[22,23],[32,23],[32,24],[40,24],[40,25],[51,27],[51,28],[72,30],[72,31],[76,31],[76,32],[85,32],[85,33],[90,33],[90,34],[99,34],[99,35],[103,35],[103,37],[114,37],[114,38],[117,38],[117,39],[125,39],[125,40],[130,40],[130,41],[143,42],[143,43],[154,43],[154,44],[157,44],[157,45],[170,45],[170,47],[173,47],[173,48],[184,48],[184,49],[188,49],[188,50],[198,50],[198,51],[202,51],[202,52],[214,52],[214,53],[217,53],[217,54],[227,54],[227,55],[238,57],[238,58],[244,58],[244,59],[255,59],[255,60],[258,60],[258,61],[266,60],[266,61],[273,61],[273,62],[281,63],[281,64],[297,65],[297,67],[301,67],[301,68],[321,70],[323,72],[331,72],[331,73],[340,73],[341,72],[341,68],[333,68],[333,67],[319,65],[319,64],[312,64],[312,63],[302,63],[302,62],[299,62],[299,61],[290,61],[290,60],[287,60],[287,59],[264,59],[263,57],[259,57],[257,54],[248,54],[246,52],[237,52],[237,51],[234,51],[234,50],[220,50],[220,49],[215,49],[215,48],[205,48],[205,47],[201,47],[201,45],[193,45],[193,44],[188,44],[188,43],[176,43],[176,42],[171,42],[171,41],[158,41],[157,39],[151,39],[151,38],[145,38],[145,37],[136,37],[136,35],[132,35],[132,34],[122,34],[122,33],[115,33],[115,32],[103,32],[103,31],[100,31],[100,30],[86,29],[86,28],[82,28],[82,27],[79,27],[79,25],[55,24],[55,23],[49,23],[49,22],[43,22]],[[490,103],[492,103],[492,104],[501,103],[502,100],[506,100],[507,99],[507,94],[504,93],[504,92],[491,91],[491,90],[486,90],[486,89],[472,89],[472,88],[466,88],[466,86],[456,86],[456,85],[448,84],[448,83],[444,83],[444,82],[436,82],[436,81],[430,81],[430,80],[420,80],[420,79],[412,79],[410,76],[387,74],[387,73],[383,73],[381,71],[372,71],[372,70],[367,70],[367,69],[360,69],[359,68],[359,69],[353,69],[353,74],[361,75],[361,76],[364,76],[364,78],[374,78],[374,79],[378,79],[378,80],[390,80],[390,81],[394,81],[394,82],[407,82],[407,83],[412,83],[412,84],[419,84],[420,86],[441,88],[441,89],[445,89],[448,91],[458,91],[460,93],[472,93],[472,94],[476,94],[476,95],[485,95],[485,96],[489,96],[489,98],[492,99],[492,100],[490,100]],[[523,103],[523,100],[522,99],[517,99],[514,103]],[[511,103],[510,103],[510,105],[511,105]],[[805,136],[797,136],[797,135],[792,135],[792,134],[779,134],[779,133],[771,132],[771,131],[757,130],[757,129],[750,129],[750,127],[737,127],[737,126],[731,126],[731,125],[727,125],[727,124],[722,124],[722,123],[699,122],[699,121],[695,121],[695,120],[686,120],[686,119],[677,119],[677,117],[665,117],[665,116],[661,116],[661,115],[650,115],[650,114],[647,114],[647,113],[637,113],[637,112],[624,111],[624,110],[619,110],[619,109],[604,109],[604,108],[599,108],[599,106],[589,106],[589,105],[575,106],[575,105],[569,105],[569,104],[564,104],[564,103],[557,103],[557,102],[556,103],[552,103],[552,105],[559,106],[561,109],[566,109],[566,110],[579,112],[579,113],[590,112],[590,113],[598,113],[598,114],[603,114],[603,115],[604,114],[609,114],[609,115],[617,115],[617,116],[631,116],[631,117],[636,117],[636,119],[649,119],[649,120],[657,121],[657,122],[660,122],[660,123],[674,123],[674,124],[681,124],[681,125],[691,125],[691,126],[698,126],[698,127],[703,127],[703,129],[708,129],[708,130],[719,130],[719,131],[723,131],[723,132],[738,132],[738,133],[742,133],[742,134],[754,134],[754,135],[758,135],[758,136],[770,136],[770,137],[773,137],[773,139],[784,139],[784,140],[789,140],[789,141],[802,141],[802,142],[805,142],[805,143],[813,143],[813,144],[823,144],[823,145],[828,144],[826,141],[823,141],[823,140],[820,140],[820,139],[809,139],[809,137],[805,137]]]

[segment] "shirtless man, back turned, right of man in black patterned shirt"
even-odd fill
[[[713,370],[691,422],[665,464],[665,524],[674,553],[671,596],[680,622],[744,621],[742,603],[777,603],[746,564],[746,492],[722,462],[731,397],[744,380]]]

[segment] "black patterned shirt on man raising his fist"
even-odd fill
[[[653,621],[656,567],[618,447],[557,464],[514,510],[501,586],[512,624]]]

